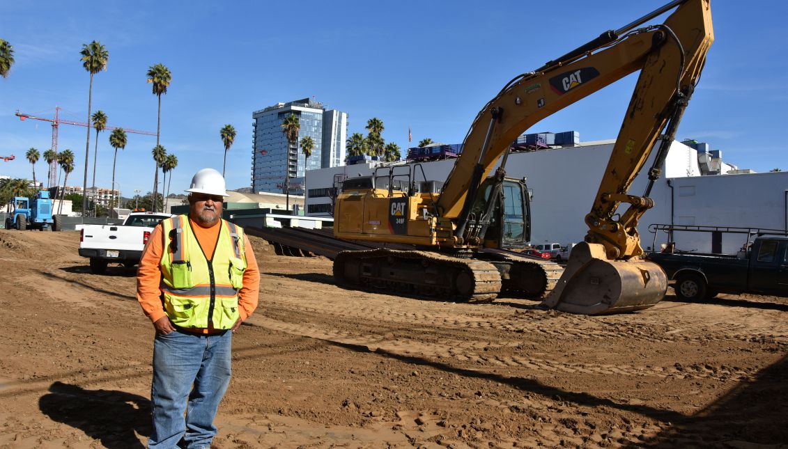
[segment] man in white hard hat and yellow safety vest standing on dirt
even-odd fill
[[[151,448],[210,447],[230,382],[232,333],[258,302],[251,244],[221,219],[224,177],[199,170],[187,191],[188,215],[154,228],[137,271],[137,299],[156,329]]]

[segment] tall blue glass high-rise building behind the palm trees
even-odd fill
[[[288,148],[281,124],[291,113],[299,117],[298,143]],[[277,103],[252,113],[252,170],[254,191],[283,193],[285,176],[290,175],[290,193],[303,195],[303,176],[307,170],[344,165],[348,138],[348,113],[326,109],[320,102],[303,98]],[[314,148],[307,161],[301,139],[312,138]]]

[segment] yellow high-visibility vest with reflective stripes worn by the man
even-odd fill
[[[162,221],[160,288],[164,310],[178,327],[229,329],[240,316],[238,291],[247,268],[243,228],[225,220],[218,225],[219,238],[209,261],[187,215]]]

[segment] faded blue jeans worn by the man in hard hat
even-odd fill
[[[156,334],[148,447],[177,447],[181,440],[188,448],[210,447],[216,410],[230,383],[231,347],[230,331]]]

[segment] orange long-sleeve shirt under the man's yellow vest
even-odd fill
[[[214,225],[210,228],[203,228],[195,221],[191,219],[189,221],[199,246],[203,248],[203,253],[214,254],[221,226]],[[251,249],[251,243],[249,243],[246,234],[243,235],[243,239],[246,248],[247,269],[243,272],[243,287],[238,292],[238,311],[241,321],[246,320],[257,308],[260,288],[260,269],[257,266],[255,252]],[[159,288],[162,272],[158,263],[162,260],[163,252],[162,224],[158,224],[151,232],[151,237],[145,245],[137,270],[137,300],[151,321],[157,321],[166,316],[164,306],[162,306],[162,290]]]

